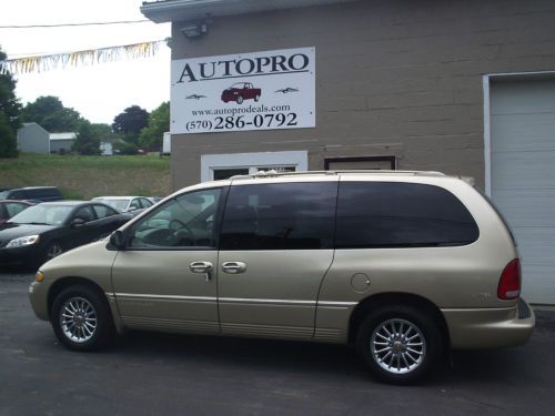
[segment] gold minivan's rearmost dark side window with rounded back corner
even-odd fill
[[[433,185],[342,182],[336,248],[466,245],[478,239],[471,213]]]

